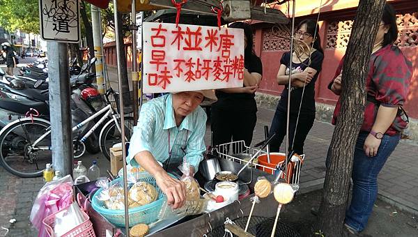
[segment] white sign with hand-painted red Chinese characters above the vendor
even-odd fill
[[[242,86],[242,29],[144,22],[144,93]]]

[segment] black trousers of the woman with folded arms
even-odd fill
[[[276,109],[272,125],[270,127],[270,136],[275,133],[276,135],[270,142],[270,151],[279,152],[281,143],[283,142],[284,136],[286,136],[286,112]],[[304,141],[307,139],[309,130],[311,130],[315,121],[315,114],[301,114],[299,116],[299,122],[296,130],[297,114],[291,114],[289,118],[289,151],[295,151],[295,153],[302,155]],[[296,135],[295,135],[296,130]],[[293,139],[295,142],[293,143]],[[293,144],[293,147],[292,147]]]

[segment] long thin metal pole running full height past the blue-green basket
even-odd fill
[[[129,213],[127,201],[127,169],[126,169],[126,146],[125,146],[125,119],[123,118],[123,91],[122,91],[122,67],[121,65],[121,40],[119,40],[119,19],[118,19],[118,1],[114,0],[115,17],[115,37],[116,37],[116,59],[118,61],[118,86],[119,86],[119,108],[121,108],[121,139],[122,139],[122,157],[123,157],[123,194],[125,199],[125,229],[129,235]]]

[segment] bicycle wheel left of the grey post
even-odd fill
[[[47,163],[52,163],[52,153],[29,149],[32,143],[44,135],[49,123],[40,119],[22,119],[6,126],[0,134],[0,163],[4,169],[22,178],[42,176]],[[47,135],[37,146],[51,147],[51,135]]]

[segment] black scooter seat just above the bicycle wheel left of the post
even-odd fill
[[[45,102],[20,101],[9,98],[0,100],[0,108],[17,114],[26,114],[29,110],[36,109],[40,116],[49,116],[49,106]]]

